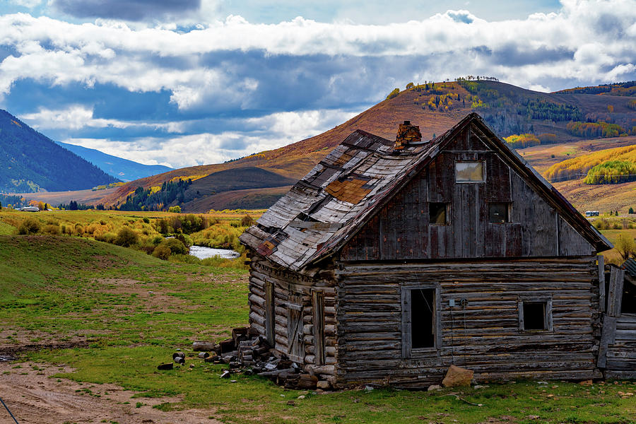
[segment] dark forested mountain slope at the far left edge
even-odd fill
[[[0,192],[59,192],[111,182],[117,179],[0,110]]]

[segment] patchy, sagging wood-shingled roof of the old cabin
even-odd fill
[[[273,264],[312,273],[311,264],[351,240],[372,216],[418,174],[466,126],[490,142],[526,182],[555,207],[598,252],[612,245],[507,143],[471,113],[431,141],[409,143],[399,153],[394,141],[357,130],[320,161],[248,228],[242,243]]]

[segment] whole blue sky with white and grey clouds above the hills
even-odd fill
[[[636,79],[636,0],[0,0],[0,108],[146,164],[330,129],[411,81]]]

